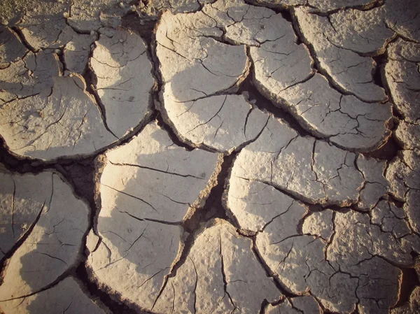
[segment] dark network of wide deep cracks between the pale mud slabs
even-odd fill
[[[147,2],[148,1],[144,1]],[[246,1],[251,2],[250,4],[253,4],[255,6],[255,3],[253,1]],[[356,10],[370,10],[372,8],[377,8],[379,6],[382,6],[385,1],[379,0],[373,3],[370,3],[366,6],[356,6],[352,7]],[[200,3],[200,10],[202,9],[202,6],[204,4]],[[269,6],[267,6],[269,7]],[[302,43],[302,34],[299,30],[299,26],[297,25],[297,22],[295,21],[295,18],[293,17],[293,13],[291,9],[285,8],[283,6],[271,6],[271,8],[276,13],[281,13],[284,19],[288,20],[293,26],[293,30],[295,31],[295,34],[297,36],[297,44]],[[329,16],[332,13],[337,12],[338,10],[332,10],[328,13],[316,13],[321,16]],[[144,119],[141,124],[139,124],[134,131],[130,132],[130,134],[127,134],[124,136],[124,138],[121,138],[116,143],[113,143],[112,145],[109,145],[109,147],[104,148],[98,152],[95,152],[90,157],[76,157],[76,158],[62,158],[57,159],[54,162],[38,162],[36,160],[32,160],[29,158],[20,158],[15,157],[13,154],[11,154],[8,149],[6,148],[6,143],[3,141],[2,138],[0,138],[0,162],[6,166],[7,169],[11,171],[15,171],[18,173],[40,173],[45,170],[56,170],[59,173],[62,173],[64,178],[66,178],[66,181],[73,187],[74,193],[80,197],[81,199],[84,199],[87,201],[87,203],[90,205],[90,227],[88,228],[88,231],[95,226],[95,221],[97,219],[97,216],[99,215],[99,208],[100,204],[97,204],[97,200],[95,200],[95,193],[94,193],[94,180],[95,176],[97,176],[97,170],[94,166],[94,160],[99,156],[102,155],[102,153],[105,150],[108,150],[109,148],[115,148],[116,146],[124,145],[125,143],[128,143],[132,140],[132,138],[139,134],[141,130],[148,124],[148,122],[151,122],[153,120],[156,120],[158,122],[158,125],[167,131],[167,134],[169,134],[169,137],[172,139],[172,141],[183,148],[186,148],[186,150],[193,150],[193,146],[189,145],[185,141],[182,141],[177,135],[174,129],[172,129],[172,126],[169,125],[167,122],[165,122],[165,118],[162,116],[160,106],[162,105],[162,76],[160,74],[159,66],[160,62],[158,60],[158,57],[156,56],[156,38],[155,38],[155,28],[157,20],[153,19],[142,19],[139,17],[138,13],[128,13],[124,17],[122,17],[122,26],[130,29],[141,38],[146,41],[147,45],[147,55],[148,58],[151,60],[151,63],[153,65],[152,68],[152,75],[155,79],[156,86],[153,88],[151,94],[150,94],[150,102],[151,102],[151,114],[148,115]],[[25,47],[32,51],[36,52],[29,43],[27,43],[25,36],[23,36],[22,31],[18,29],[18,27],[12,27],[15,34],[18,35],[22,43],[24,43]],[[77,31],[76,31],[77,32]],[[85,34],[85,33],[79,33],[78,34]],[[396,39],[396,38],[395,38]],[[311,45],[307,45],[309,48],[309,51],[311,53],[312,59],[314,59],[314,68],[319,73],[322,73],[326,78],[328,78],[328,82],[330,83],[330,86],[333,87],[335,90],[338,90],[341,94],[351,94],[349,92],[345,92],[342,90],[341,87],[337,87],[336,83],[326,71],[323,69],[320,69],[319,62],[316,58],[316,55],[314,53],[314,49],[311,48]],[[93,50],[90,51],[90,56],[92,57]],[[62,62],[65,70],[65,63],[64,63],[64,56],[62,55],[62,52],[58,54],[59,60]],[[387,55],[382,54],[378,55],[376,57],[372,57],[374,61],[377,63],[377,66],[373,73],[373,81],[376,85],[383,87],[386,90],[386,94],[388,95],[389,99],[391,99],[390,92],[388,90],[388,87],[386,87],[386,80],[384,79],[384,64],[387,61]],[[251,101],[252,104],[255,104],[256,107],[260,108],[261,110],[265,110],[268,113],[272,113],[274,117],[279,117],[283,120],[285,120],[292,129],[297,131],[297,133],[300,136],[311,136],[314,137],[309,133],[309,131],[305,130],[300,126],[300,124],[297,122],[297,119],[293,117],[290,113],[286,112],[286,110],[283,110],[279,108],[278,106],[274,106],[272,101],[264,97],[253,85],[252,80],[252,73],[253,73],[253,64],[251,64],[251,69],[248,73],[248,76],[240,83],[239,90],[236,94],[248,94],[248,100]],[[90,69],[90,67],[87,67],[83,73],[83,78],[85,78],[86,85],[87,85],[87,92],[92,94],[94,98],[97,101],[97,104],[99,108],[101,109],[101,114],[103,118],[103,122],[106,126],[106,129],[108,131],[109,128],[106,125],[106,112],[104,105],[102,104],[101,100],[99,99],[99,96],[97,92],[95,91],[94,87],[96,85],[96,78],[94,75],[94,71]],[[251,111],[250,111],[251,112]],[[249,113],[248,113],[249,115]],[[395,112],[393,113],[394,119],[396,121],[402,120],[402,116]],[[393,123],[393,122],[392,122]],[[395,129],[395,123],[390,127],[391,130]],[[110,131],[111,132],[111,131]],[[112,132],[111,132],[112,133]],[[115,136],[115,135],[114,135]],[[205,149],[205,148],[204,148]],[[197,234],[197,231],[200,229],[200,226],[202,226],[204,223],[208,222],[209,220],[212,220],[214,218],[221,218],[223,220],[227,220],[231,224],[234,225],[234,227],[239,232],[239,224],[237,223],[235,216],[230,215],[228,212],[228,208],[225,208],[225,205],[223,204],[223,193],[225,192],[226,184],[228,183],[228,178],[230,176],[230,170],[232,169],[233,163],[235,162],[235,158],[241,151],[241,148],[235,150],[230,155],[225,155],[223,157],[223,163],[221,165],[221,171],[217,175],[217,183],[214,185],[214,187],[211,188],[211,191],[209,192],[209,195],[205,201],[204,206],[202,208],[195,208],[195,212],[193,215],[188,217],[188,219],[181,224],[183,229],[187,231],[189,234],[184,241],[183,245],[183,251],[181,253],[181,257],[179,257],[179,260],[174,264],[171,273],[169,273],[168,276],[165,278],[165,282],[162,285],[161,292],[164,290],[168,278],[172,278],[176,276],[176,272],[179,269],[181,265],[183,265],[186,262],[186,259],[188,258],[189,252],[191,248],[194,245],[194,238]],[[372,152],[365,152],[363,155],[365,157],[373,157],[377,159],[385,159],[387,161],[387,164],[391,162],[392,159],[395,158],[395,156],[398,155],[398,152],[402,151],[402,147],[398,144],[397,141],[395,141],[395,138],[390,137],[388,141],[378,150],[374,150]],[[395,203],[395,200],[393,200]],[[398,202],[395,205],[398,207],[402,206],[402,202]],[[98,207],[99,206],[99,207]],[[323,206],[320,205],[308,205],[309,206],[309,212],[313,213],[314,211],[321,211],[323,210]],[[342,207],[339,206],[328,206],[328,208],[331,208],[332,210],[343,210]],[[351,210],[357,210],[356,208],[351,207]],[[1,269],[1,275],[3,275],[3,271],[5,270],[6,263],[8,261],[8,258],[13,255],[15,250],[17,250],[20,245],[25,241],[25,239],[29,236],[31,233],[31,230],[34,229],[34,226],[36,225],[36,222],[38,222],[39,217],[41,217],[42,210],[38,213],[38,216],[36,217],[36,220],[31,224],[27,232],[22,236],[20,241],[15,243],[13,248],[3,257],[0,264]],[[306,217],[306,216],[305,216]],[[298,229],[302,229],[302,223],[304,218],[300,221],[300,225],[298,226]],[[335,229],[335,228],[334,228]],[[87,231],[87,232],[88,232]],[[302,232],[299,232],[299,234],[302,234]],[[241,236],[244,236],[246,238],[250,238],[252,240],[252,251],[255,257],[258,259],[258,262],[262,266],[262,268],[265,270],[265,273],[268,277],[274,279],[274,283],[276,287],[279,289],[279,291],[287,298],[293,298],[298,297],[297,294],[293,294],[288,292],[283,285],[279,282],[279,280],[276,279],[272,271],[270,271],[269,266],[267,266],[264,259],[262,259],[260,252],[258,252],[258,248],[255,245],[255,234],[254,235],[246,235],[241,234]],[[86,235],[83,239],[82,248],[85,248],[86,242]],[[330,239],[330,243],[332,242],[332,238]],[[330,244],[328,243],[328,244]],[[328,245],[327,245],[328,247]],[[326,250],[325,250],[326,251]],[[102,301],[102,303],[107,306],[113,313],[116,314],[134,314],[134,313],[146,313],[144,311],[139,310],[136,306],[127,304],[123,304],[119,301],[116,301],[116,299],[113,297],[113,293],[111,291],[106,290],[104,287],[99,287],[97,283],[92,282],[90,280],[90,276],[88,275],[88,270],[86,269],[85,262],[87,260],[87,254],[82,250],[82,261],[76,265],[72,266],[70,269],[65,271],[61,276],[59,276],[53,283],[50,285],[44,287],[41,291],[47,290],[50,287],[56,285],[59,281],[66,278],[67,276],[76,276],[76,278],[80,279],[85,287],[87,288],[88,292],[94,297]],[[417,257],[414,256],[416,254],[413,253],[413,258]],[[389,262],[389,261],[387,261]],[[223,264],[223,262],[222,262]],[[409,295],[412,293],[415,287],[420,285],[419,278],[416,276],[416,271],[414,268],[402,268],[399,267],[402,270],[402,280],[400,283],[400,295],[398,297],[398,302],[395,304],[395,307],[401,306],[402,304],[407,303],[409,301]],[[0,276],[0,279],[2,279],[3,276]],[[34,292],[36,294],[38,292]],[[157,299],[160,297],[160,294],[158,295]],[[156,300],[157,300],[156,299]],[[283,299],[281,299],[277,303],[281,303]],[[318,301],[318,300],[317,300]],[[318,302],[320,303],[320,302]],[[265,307],[268,305],[268,301],[264,300],[261,304],[260,313],[265,312]],[[323,308],[323,306],[320,304],[320,306]],[[324,313],[334,313],[326,310],[323,308]],[[354,314],[358,313],[358,309],[356,308],[355,311],[353,311]]]

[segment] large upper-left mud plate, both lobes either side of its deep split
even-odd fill
[[[76,50],[71,48],[77,48],[77,41],[66,45],[68,53],[64,52],[64,59],[70,59],[66,71],[71,73],[62,77],[57,55],[24,50],[10,29],[4,32],[9,39],[2,47],[14,61],[0,70],[3,79],[0,134],[15,155],[45,161],[91,155],[123,137],[146,118],[148,95],[154,83],[146,46],[139,36],[130,35],[125,43],[123,38],[127,39],[129,33],[120,31],[113,38],[101,38],[97,42],[91,64],[97,75],[102,110],[86,91],[85,79],[76,74],[83,72],[88,57],[81,55],[80,60],[80,55],[73,55]],[[118,45],[112,50],[106,48],[113,41]],[[130,50],[134,52],[127,55]],[[119,63],[113,61],[116,57]],[[130,92],[133,88],[134,93]],[[123,122],[125,117],[128,121]]]

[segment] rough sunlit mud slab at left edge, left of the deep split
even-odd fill
[[[77,74],[55,77],[50,95],[16,99],[1,107],[0,134],[13,153],[43,160],[88,155],[116,141]]]

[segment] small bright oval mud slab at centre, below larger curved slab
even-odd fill
[[[242,95],[211,96],[168,107],[167,115],[182,138],[221,152],[255,140],[268,120]]]

